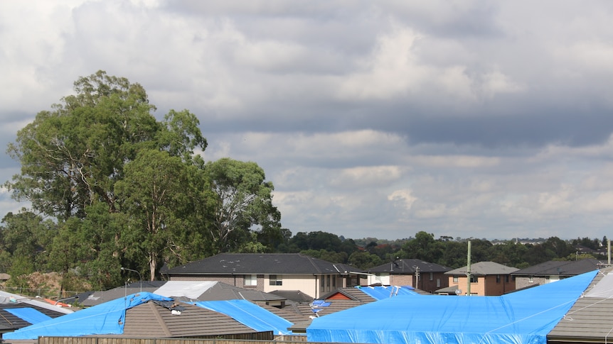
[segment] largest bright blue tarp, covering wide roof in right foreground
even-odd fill
[[[596,271],[503,296],[395,296],[313,319],[312,342],[546,343]]]

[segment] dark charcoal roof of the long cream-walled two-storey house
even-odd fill
[[[361,271],[300,253],[222,253],[186,265],[166,274],[347,274]]]

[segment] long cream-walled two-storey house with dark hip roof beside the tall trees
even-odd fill
[[[299,290],[316,299],[339,287],[357,285],[360,272],[300,253],[222,253],[165,274],[170,281],[219,281],[260,292]]]

